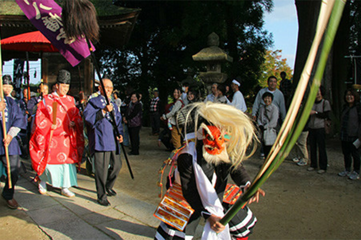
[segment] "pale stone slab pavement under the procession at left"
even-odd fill
[[[75,197],[62,196],[51,186],[41,195],[33,177],[28,171],[18,181],[19,209],[0,200],[0,239],[153,239],[159,224],[152,216],[155,205],[115,189],[118,194],[108,197],[111,206],[101,206],[94,178],[84,174],[78,174],[78,187],[71,188]]]

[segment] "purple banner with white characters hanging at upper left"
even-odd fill
[[[16,0],[29,20],[59,52],[76,66],[90,55],[85,38],[69,39],[65,35],[61,18],[62,8],[54,0]],[[93,49],[94,46],[92,45]]]

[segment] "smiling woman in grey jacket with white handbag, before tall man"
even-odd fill
[[[277,127],[279,112],[278,112],[278,107],[272,104],[273,94],[271,92],[266,91],[265,93],[263,93],[262,99],[265,104],[261,105],[258,114],[257,123],[261,132],[263,132],[262,134],[263,151],[265,157],[267,157],[273,143],[276,141],[277,138],[276,127]]]

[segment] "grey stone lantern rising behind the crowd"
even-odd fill
[[[195,61],[206,63],[207,71],[200,72],[199,77],[206,83],[208,90],[210,90],[213,83],[223,83],[226,81],[227,74],[221,72],[221,63],[225,61],[232,62],[233,57],[218,47],[219,36],[215,32],[208,36],[208,45],[209,47],[203,48],[192,57]]]

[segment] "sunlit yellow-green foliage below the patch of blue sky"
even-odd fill
[[[259,85],[261,87],[267,86],[267,78],[271,75],[280,78],[281,71],[286,72],[288,79],[292,78],[292,68],[287,64],[287,59],[282,58],[282,50],[267,50],[265,55],[265,61],[261,66],[261,77],[259,78]],[[280,81],[278,81],[279,84]]]

